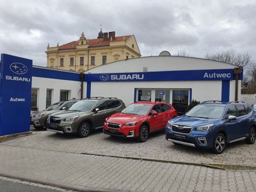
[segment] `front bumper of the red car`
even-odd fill
[[[134,126],[121,125],[120,128],[113,128],[113,127],[108,127],[106,122],[104,122],[103,132],[105,134],[120,136],[124,138],[134,138],[139,135],[139,131],[136,125]]]

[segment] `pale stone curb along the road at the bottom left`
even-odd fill
[[[120,189],[105,189],[105,188],[93,188],[93,187],[86,187],[86,186],[80,186],[76,184],[67,184],[65,182],[59,182],[56,180],[47,180],[47,179],[38,179],[35,177],[26,177],[24,175],[12,175],[10,173],[0,173],[0,176],[2,177],[8,177],[12,179],[19,179],[27,182],[34,182],[38,184],[43,184],[47,186],[62,188],[62,189],[68,189],[72,191],[86,191],[86,192],[127,192],[125,190]]]

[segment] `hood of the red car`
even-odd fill
[[[129,122],[139,121],[143,117],[144,117],[144,115],[115,113],[114,115],[109,116],[109,118],[107,120],[108,120],[108,122],[112,122],[112,123],[126,124]]]

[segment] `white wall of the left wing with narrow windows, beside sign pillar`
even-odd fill
[[[38,110],[46,107],[46,90],[52,89],[52,104],[60,101],[60,90],[69,90],[68,99],[81,98],[81,82],[32,77],[32,88],[38,88]]]

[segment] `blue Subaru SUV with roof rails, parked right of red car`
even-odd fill
[[[244,102],[210,100],[166,125],[166,140],[191,147],[212,148],[221,154],[227,143],[255,143],[256,111]]]

